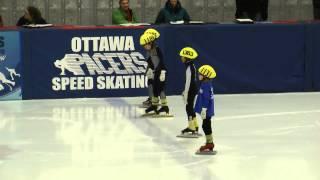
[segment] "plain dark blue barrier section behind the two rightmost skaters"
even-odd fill
[[[210,64],[216,69],[216,93],[304,90],[304,25],[189,25],[167,29],[166,56],[170,57],[171,71],[178,67],[179,50],[192,46],[199,52],[197,67]],[[179,82],[183,75],[173,78]]]

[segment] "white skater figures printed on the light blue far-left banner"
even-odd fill
[[[16,85],[15,79],[21,75],[16,72],[14,68],[7,67],[6,65],[6,53],[5,53],[5,38],[0,36],[0,92],[6,94],[6,92],[13,91]]]

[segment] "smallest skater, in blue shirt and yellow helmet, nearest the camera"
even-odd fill
[[[195,111],[203,120],[202,129],[206,135],[206,143],[201,146],[196,154],[215,154],[212,137],[211,117],[214,116],[214,97],[212,79],[216,77],[215,70],[210,65],[199,68],[200,89],[195,104]]]

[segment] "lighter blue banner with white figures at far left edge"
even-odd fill
[[[20,33],[0,32],[0,100],[19,100],[22,82]]]

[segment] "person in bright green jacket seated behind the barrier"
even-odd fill
[[[119,0],[119,8],[112,11],[112,24],[137,23],[137,18],[129,8],[129,0]]]

